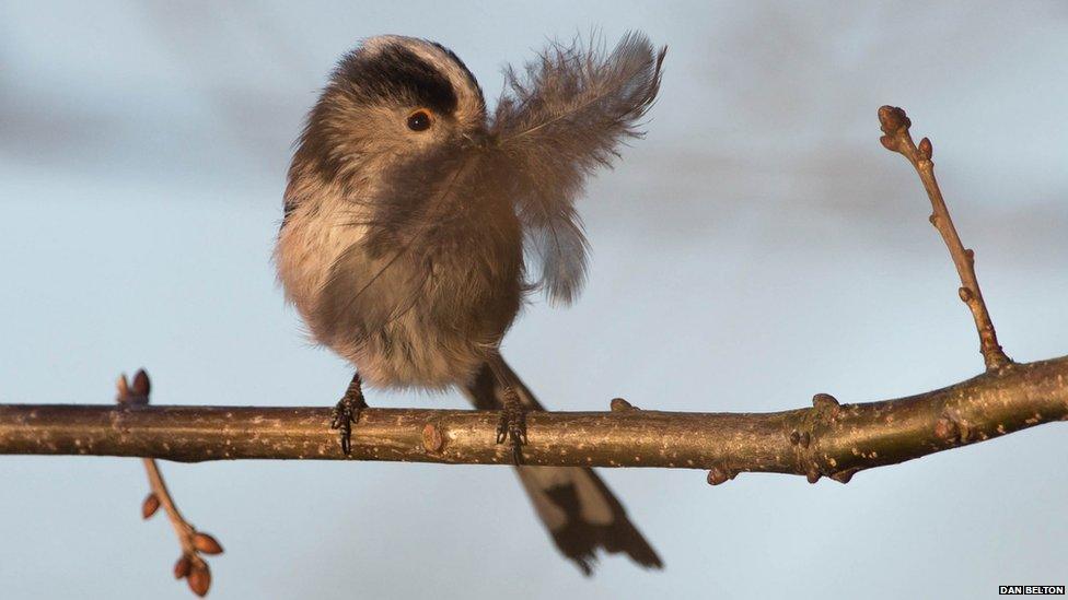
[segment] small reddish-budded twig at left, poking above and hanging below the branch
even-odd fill
[[[124,407],[147,405],[149,403],[149,391],[151,384],[148,373],[144,369],[138,370],[134,376],[132,384],[127,383],[126,375],[119,376],[118,395],[115,401]],[[174,498],[163,481],[163,473],[160,466],[151,458],[142,458],[144,470],[149,477],[149,487],[151,492],[141,504],[141,516],[146,519],[152,517],[163,506],[174,532],[182,545],[182,555],[174,564],[174,577],[185,578],[189,589],[197,596],[208,593],[211,587],[211,570],[208,568],[207,561],[201,554],[221,554],[222,545],[211,536],[196,530],[178,511],[174,504]]]

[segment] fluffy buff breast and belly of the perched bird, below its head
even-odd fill
[[[373,221],[367,203],[294,209],[276,256],[287,295],[372,386],[465,381],[520,308],[518,219],[502,202],[457,202],[422,232],[372,244]]]

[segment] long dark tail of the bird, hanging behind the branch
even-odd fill
[[[531,390],[504,363],[515,393],[529,410],[544,410]],[[483,365],[464,393],[480,410],[500,410],[501,385],[488,365]],[[516,467],[534,510],[565,556],[592,575],[596,550],[625,552],[643,567],[661,568],[660,556],[627,518],[623,505],[592,469],[581,467]]]

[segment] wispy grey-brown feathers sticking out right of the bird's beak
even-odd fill
[[[570,303],[584,280],[587,243],[574,202],[585,178],[641,134],[638,121],[657,97],[666,51],[630,33],[611,52],[592,40],[552,44],[522,72],[506,69],[491,129],[515,178],[527,256],[553,301]]]

